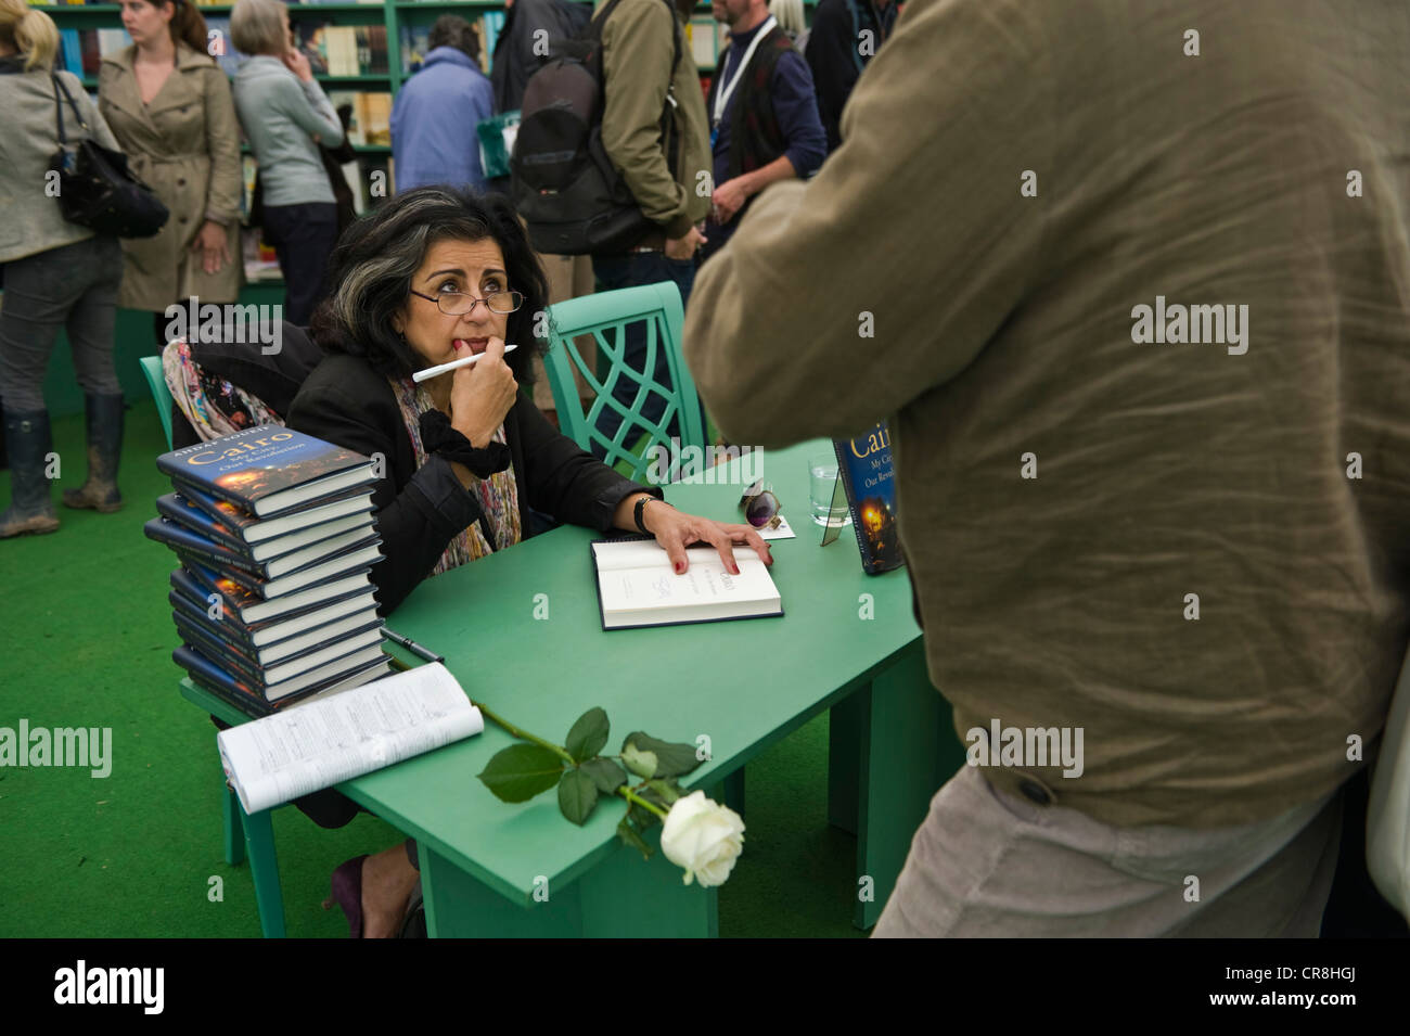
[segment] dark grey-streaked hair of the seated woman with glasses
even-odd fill
[[[329,269],[331,295],[313,313],[310,333],[326,352],[365,359],[386,378],[410,378],[426,361],[392,324],[406,306],[412,278],[439,241],[492,240],[505,255],[509,288],[525,296],[509,314],[505,343],[519,348],[505,357],[520,386],[533,383],[533,357],[546,343],[537,316],[548,309],[548,282],[513,206],[501,195],[455,187],[417,187],[388,199],[344,231]]]

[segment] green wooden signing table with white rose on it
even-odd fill
[[[931,796],[964,753],[926,678],[905,572],[866,575],[850,529],[819,547],[808,460],[828,450],[815,441],[756,461],[798,531],[773,541],[783,617],[603,631],[588,548],[596,536],[564,527],[427,579],[388,624],[444,654],[471,698],[560,744],[594,705],[612,720],[613,751],[632,730],[708,736],[711,760],[685,778],[691,788],[733,778],[737,789],[749,760],[830,709],[828,820],[857,834],[856,899],[838,909],[870,927]],[[716,472],[733,478],[737,468]],[[737,522],[740,488],[733,478],[666,495],[682,510]],[[510,743],[489,726],[338,785],[416,837],[433,936],[716,935],[718,891],[685,887],[660,851],[644,861],[620,844],[618,802],[601,801],[574,827],[553,792],[522,805],[495,799],[475,774]],[[744,853],[767,837],[747,829]]]

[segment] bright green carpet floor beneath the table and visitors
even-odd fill
[[[173,558],[141,531],[169,491],[155,407],[128,410],[116,514],[58,503],[86,474],[83,417],[56,419],[54,438],[62,527],[0,541],[0,727],[111,727],[113,771],[0,767],[0,937],[258,936],[248,865],[221,856],[214,727],[176,691]],[[826,823],[826,763],[823,713],[749,765],[722,936],[862,935],[856,839]],[[400,836],[371,816],[323,830],[295,809],[276,810],[274,829],[289,935],[345,936],[343,913],[319,909],[329,874]]]

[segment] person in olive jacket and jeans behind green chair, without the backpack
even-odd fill
[[[592,257],[598,290],[674,280],[681,303],[689,300],[695,249],[705,240],[695,224],[709,213],[711,197],[705,99],[682,28],[691,7],[689,0],[680,0],[678,7],[671,0],[616,0],[602,25],[602,147],[656,230],[623,254]],[[666,107],[674,124],[674,154],[667,154],[668,142],[661,138]],[[636,371],[644,369],[646,327],[640,321],[627,327],[625,355]],[[664,352],[657,357],[654,378],[671,383]],[[630,378],[619,378],[613,396],[630,407],[636,389]],[[651,393],[643,413],[660,420],[663,412],[664,400]],[[605,409],[596,427],[611,438],[620,423]],[[594,445],[594,452],[602,457],[605,451]]]

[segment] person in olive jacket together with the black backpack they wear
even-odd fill
[[[598,290],[670,280],[682,304],[689,299],[711,168],[705,99],[681,27],[689,10],[688,0],[608,0],[525,89],[510,159],[516,207],[536,251],[592,255]],[[626,327],[622,354],[647,374],[643,321]],[[664,354],[650,375],[670,388]],[[630,407],[636,390],[619,378],[613,397]],[[650,393],[646,419],[664,412]],[[611,440],[620,424],[603,409],[595,427]]]

